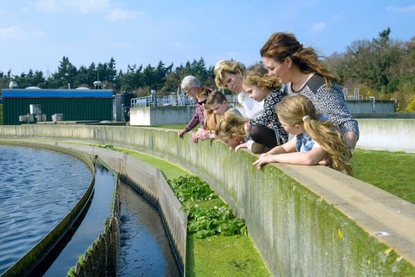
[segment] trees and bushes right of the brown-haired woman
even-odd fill
[[[397,98],[401,111],[415,111],[415,37],[403,42],[390,34],[387,28],[371,40],[358,39],[325,62],[349,91],[359,87],[377,100]]]

